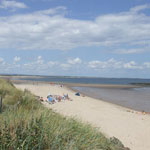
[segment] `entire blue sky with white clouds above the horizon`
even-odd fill
[[[0,74],[150,78],[150,1],[0,0]]]

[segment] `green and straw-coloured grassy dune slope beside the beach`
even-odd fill
[[[28,90],[0,79],[0,150],[129,150],[96,128],[45,108]]]

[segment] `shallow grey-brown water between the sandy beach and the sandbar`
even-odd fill
[[[138,111],[150,112],[150,88],[91,88],[73,87],[83,94]]]

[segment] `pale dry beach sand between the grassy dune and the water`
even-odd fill
[[[97,127],[106,136],[120,139],[131,150],[150,150],[150,115],[120,107],[87,96],[75,96],[75,92],[59,85],[44,83],[15,84],[46,99],[48,93],[67,94],[73,101],[43,104],[65,116],[73,116]]]

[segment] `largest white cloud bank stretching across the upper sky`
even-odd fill
[[[150,16],[139,10],[148,7],[137,6],[128,12],[101,15],[91,21],[67,18],[64,16],[66,8],[61,6],[31,14],[0,17],[0,50],[146,47],[150,43]]]

